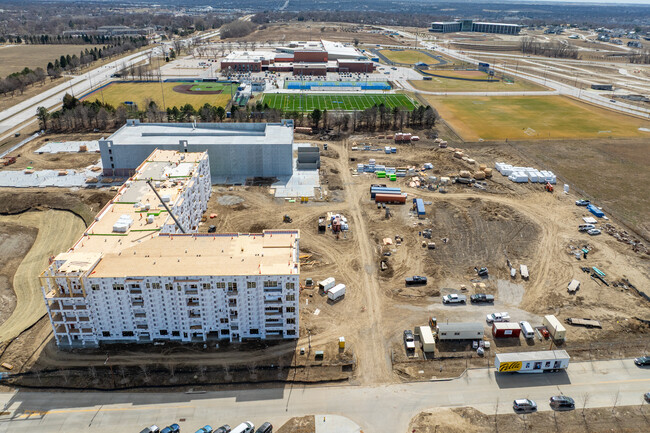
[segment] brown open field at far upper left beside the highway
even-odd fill
[[[98,45],[99,46],[99,45]],[[45,70],[48,62],[54,63],[61,56],[76,54],[95,45],[13,45],[0,46],[0,77],[20,72],[25,67]],[[101,48],[101,46],[99,46]]]

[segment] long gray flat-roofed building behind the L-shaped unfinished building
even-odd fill
[[[99,140],[105,176],[131,176],[158,149],[207,151],[213,183],[293,173],[293,121],[281,123],[140,123]]]

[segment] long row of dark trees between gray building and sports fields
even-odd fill
[[[143,107],[120,105],[117,108],[99,100],[79,101],[66,94],[61,110],[49,113],[44,107],[37,109],[41,128],[54,131],[102,130],[122,126],[126,119],[137,118],[149,122],[223,122],[227,113],[224,107],[204,104],[198,110],[191,104],[162,110],[155,101],[148,100]],[[386,131],[403,128],[431,129],[438,113],[430,106],[420,105],[413,110],[392,109],[381,105],[362,111],[343,112],[315,109],[309,114],[297,111],[283,112],[257,102],[245,107],[231,107],[232,122],[277,122],[293,119],[297,126],[311,126],[315,130],[337,129],[337,132]]]

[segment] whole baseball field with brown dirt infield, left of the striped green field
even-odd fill
[[[208,89],[207,85],[210,85],[210,89]],[[205,88],[194,89],[197,86]],[[219,88],[217,89],[217,87]],[[179,88],[184,90],[179,91]],[[236,87],[233,89],[233,94],[235,91]],[[220,83],[197,83],[194,85],[182,83],[113,83],[96,90],[83,99],[89,101],[98,99],[115,107],[127,102],[133,102],[138,105],[140,110],[146,109],[146,105],[150,100],[154,101],[160,108],[181,107],[185,104],[192,104],[194,108],[198,109],[206,102],[225,108],[230,102],[230,88]]]

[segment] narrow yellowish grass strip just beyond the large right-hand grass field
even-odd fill
[[[430,72],[438,75],[452,76],[454,72],[462,71],[434,71]],[[466,71],[478,72],[480,76],[468,76],[468,78],[487,78],[485,72],[480,71]],[[458,76],[458,75],[453,75]],[[512,83],[507,83],[499,78],[499,81],[482,82],[482,81],[463,81],[451,80],[440,77],[431,77],[431,81],[413,80],[409,81],[413,87],[418,90],[428,92],[520,92],[529,90],[548,90],[543,86],[537,85],[533,82],[517,78]]]

